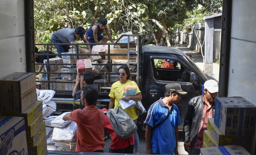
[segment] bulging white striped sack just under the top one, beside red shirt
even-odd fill
[[[52,141],[63,142],[63,143],[75,142],[76,132],[77,132],[76,122],[71,121],[71,123],[64,128],[54,128]]]

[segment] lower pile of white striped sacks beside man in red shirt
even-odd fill
[[[71,151],[75,151],[77,124],[73,121],[63,121],[62,118],[67,113],[69,112],[64,112],[59,116],[50,116],[46,120],[47,144],[53,144],[56,147],[70,147]]]

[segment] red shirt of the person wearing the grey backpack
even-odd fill
[[[107,111],[106,108],[102,109],[104,112]],[[109,130],[109,133],[112,134],[111,139],[112,142],[110,144],[110,148],[111,149],[121,149],[121,148],[125,148],[128,147],[129,145],[134,145],[134,134],[127,138],[127,139],[119,139],[117,137],[117,134],[114,132],[114,129],[112,128],[110,121],[108,119],[107,114],[105,114],[105,123],[104,123],[104,127],[107,128]]]

